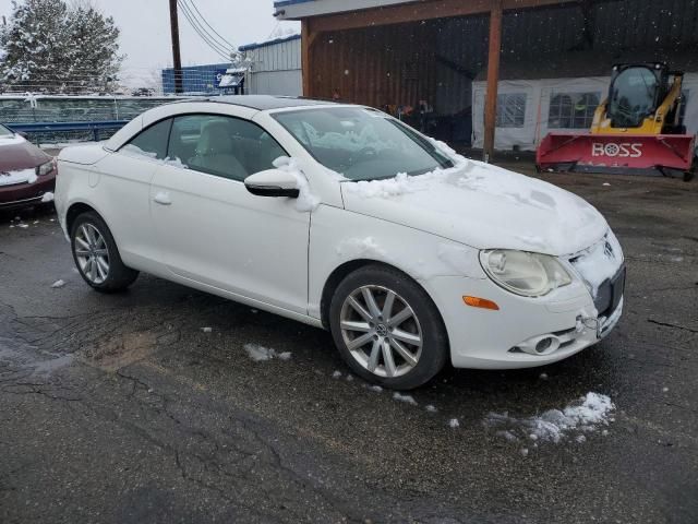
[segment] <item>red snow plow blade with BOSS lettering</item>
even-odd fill
[[[690,134],[550,133],[538,147],[535,165],[546,171],[686,176],[695,141]]]

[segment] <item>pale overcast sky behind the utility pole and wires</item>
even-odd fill
[[[21,1],[21,0],[20,0]],[[208,23],[234,46],[266,39],[277,29],[274,0],[189,0]],[[121,29],[121,52],[128,55],[124,72],[155,70],[172,63],[168,0],[93,0],[113,16]],[[9,17],[11,0],[0,0],[0,16]],[[180,13],[182,64],[220,63],[224,60],[202,41]],[[284,22],[281,31],[300,24]]]

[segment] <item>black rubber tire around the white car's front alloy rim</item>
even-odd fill
[[[394,362],[397,364],[399,361],[401,362],[402,369],[409,369],[408,371],[402,371],[404,374],[401,376],[389,377],[370,371],[365,365],[361,364],[359,359],[354,357],[354,354],[352,354],[347,346],[346,336],[340,326],[342,311],[345,311],[344,314],[346,315],[346,312],[348,311],[346,309],[348,308],[346,301],[348,298],[350,296],[358,296],[356,294],[361,293],[361,289],[365,287],[377,291],[378,297],[375,301],[378,309],[383,309],[385,305],[385,297],[381,298],[380,295],[382,293],[387,295],[387,291],[389,290],[397,294],[395,303],[398,303],[397,300],[400,300],[404,305],[410,307],[413,312],[413,321],[408,320],[407,322],[413,322],[412,325],[417,326],[413,332],[419,332],[421,334],[421,353],[419,354],[417,364],[412,367],[406,359],[400,357],[399,354],[396,354],[397,358],[395,358]],[[383,300],[383,302],[381,302],[381,300]],[[351,311],[356,310],[351,308]],[[398,317],[395,311],[393,315]],[[365,323],[368,324],[369,322],[365,321]],[[381,323],[383,323],[383,320],[381,320]],[[372,330],[373,333],[375,333],[378,327],[383,330],[383,333],[385,333],[385,326],[388,326],[387,330],[390,332],[390,335],[386,335],[385,338],[392,336],[394,331],[389,327],[389,323],[387,321],[385,326],[377,324],[371,325],[375,325]],[[397,327],[402,325],[405,324],[396,324],[395,326]],[[388,389],[411,390],[424,384],[442,370],[448,358],[448,336],[436,306],[426,291],[412,278],[388,266],[380,264],[366,265],[345,277],[332,297],[329,305],[329,326],[335,344],[339,349],[339,354],[353,372],[368,382],[380,384]],[[369,334],[365,335],[368,336]],[[377,334],[373,334],[371,336],[373,340],[378,341]],[[356,338],[359,338],[359,336],[356,336]],[[389,345],[390,344],[388,343],[388,347]],[[370,349],[369,346],[371,346]],[[363,356],[369,357],[369,354],[375,346],[373,346],[373,341],[369,341],[365,346],[361,347],[362,348],[360,348],[359,352],[361,352],[360,355],[361,358],[363,358]],[[404,347],[406,346],[404,345]],[[363,348],[365,348],[365,350]],[[410,346],[409,348],[413,348],[413,346]],[[383,370],[375,368],[378,372],[385,372],[388,369],[383,355],[384,354],[381,353],[380,357],[383,361]]]

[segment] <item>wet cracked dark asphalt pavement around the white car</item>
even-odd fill
[[[417,405],[321,330],[148,275],[98,295],[50,212],[0,215],[0,522],[697,522],[698,183],[544,178],[619,237],[619,326],[546,368],[448,369]],[[483,424],[588,392],[616,408],[583,442]]]

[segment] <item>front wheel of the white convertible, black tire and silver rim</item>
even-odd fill
[[[348,275],[332,299],[329,324],[349,367],[386,388],[422,385],[446,362],[448,341],[436,306],[390,267],[371,265]]]

